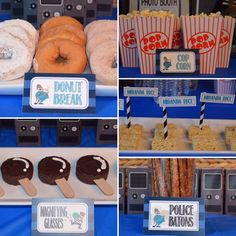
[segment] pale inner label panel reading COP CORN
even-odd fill
[[[189,51],[163,51],[160,53],[160,71],[162,73],[194,73],[196,55]]]

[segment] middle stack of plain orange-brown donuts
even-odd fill
[[[87,64],[83,25],[69,16],[47,20],[39,31],[36,73],[83,73]]]

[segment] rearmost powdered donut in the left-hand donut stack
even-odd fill
[[[38,31],[28,21],[16,19],[16,20],[6,20],[6,21],[0,23],[0,27],[1,26],[13,26],[13,25],[20,26],[20,27],[24,28],[30,34],[31,41],[34,42],[35,45],[37,45],[38,38],[39,38]]]

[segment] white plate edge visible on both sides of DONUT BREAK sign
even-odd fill
[[[0,82],[0,95],[22,95],[24,79]],[[116,97],[117,87],[97,84],[96,95],[100,97]]]

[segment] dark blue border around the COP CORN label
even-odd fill
[[[161,52],[194,52],[195,56],[196,56],[196,71],[194,73],[162,73],[160,71],[160,54]],[[184,48],[180,48],[180,49],[158,49],[156,50],[156,74],[157,75],[162,75],[162,76],[172,76],[175,75],[177,77],[180,77],[182,75],[186,75],[186,76],[191,76],[191,75],[198,75],[200,73],[200,55],[199,55],[199,51],[196,49],[184,49]]]

